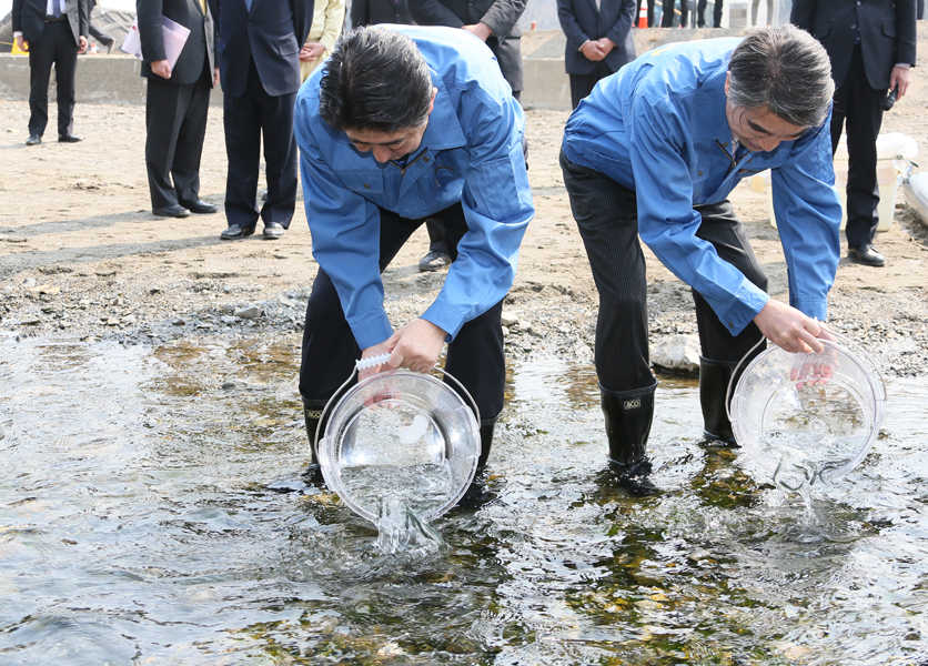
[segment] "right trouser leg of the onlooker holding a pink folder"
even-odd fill
[[[193,204],[200,200],[200,158],[206,137],[210,84],[204,74],[196,83],[184,88],[183,122],[178,133],[171,174],[178,201]]]

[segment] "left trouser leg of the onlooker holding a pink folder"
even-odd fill
[[[145,170],[152,210],[176,205],[171,164],[183,122],[182,85],[151,77],[145,88]]]

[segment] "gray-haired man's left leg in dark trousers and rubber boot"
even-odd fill
[[[623,487],[648,494],[655,491],[646,480],[646,446],[657,382],[648,356],[645,258],[635,194],[572,163],[563,152],[561,169],[599,293],[596,375],[611,465]]]

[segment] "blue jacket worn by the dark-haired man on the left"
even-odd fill
[[[464,209],[467,231],[457,259],[422,315],[448,340],[505,296],[535,213],[522,153],[522,107],[491,50],[464,30],[389,29],[413,39],[437,89],[422,143],[404,168],[359,152],[320,118],[324,65],[301,88],[294,119],[313,256],[332,279],[361,349],[393,332],[379,270],[380,208],[413,220],[458,202]]]

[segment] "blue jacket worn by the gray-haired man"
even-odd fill
[[[770,152],[733,152],[725,77],[737,38],[672,44],[599,81],[567,120],[564,153],[637,194],[638,233],[657,258],[738,334],[768,296],[696,236],[694,205],[718,203],[770,169],[789,303],[825,320],[840,244],[830,113]]]

